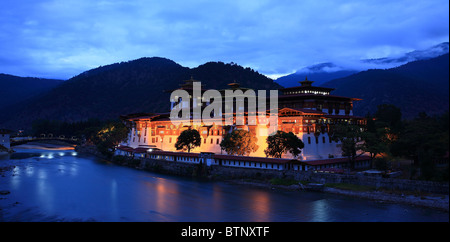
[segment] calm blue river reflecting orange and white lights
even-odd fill
[[[161,175],[73,150],[0,156],[0,221],[449,221],[449,214],[334,194]]]

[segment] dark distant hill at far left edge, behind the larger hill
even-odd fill
[[[0,74],[0,109],[47,92],[63,80]]]

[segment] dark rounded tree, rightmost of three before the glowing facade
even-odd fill
[[[276,134],[267,137],[267,149],[264,150],[264,153],[266,156],[281,158],[284,153],[290,152],[297,157],[304,147],[305,144],[302,140],[292,132],[277,131]]]

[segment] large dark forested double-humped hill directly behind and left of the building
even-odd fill
[[[29,128],[33,120],[79,121],[114,119],[137,112],[168,112],[170,93],[184,80],[201,81],[205,88],[223,89],[233,81],[254,89],[278,89],[272,79],[236,64],[208,62],[197,68],[172,60],[141,58],[83,72],[50,92],[0,110],[0,126]]]

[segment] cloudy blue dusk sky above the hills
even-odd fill
[[[68,79],[165,57],[281,75],[449,41],[448,0],[1,0],[0,73]]]

